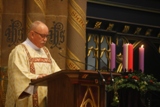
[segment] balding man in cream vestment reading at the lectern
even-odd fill
[[[29,84],[61,70],[45,47],[48,35],[48,27],[41,21],[35,21],[30,26],[27,39],[11,51],[5,107],[46,107],[47,87],[35,89]]]

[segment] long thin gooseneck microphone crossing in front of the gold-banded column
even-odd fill
[[[78,61],[78,60],[75,60],[75,59],[72,59],[72,58],[70,58],[69,56],[64,56],[64,55],[62,55],[61,53],[58,53],[60,56],[62,56],[63,58],[67,58],[67,59],[69,59],[69,60],[71,60],[71,61],[75,61],[75,62],[78,62],[78,63],[81,63],[81,64],[84,64],[84,65],[88,65],[88,66],[90,66],[90,67],[93,67],[93,68],[95,68],[93,65],[90,65],[90,64],[87,64],[87,63],[84,63],[84,62],[81,62],[81,61]],[[105,80],[105,78],[104,78],[104,76],[101,74],[101,72],[98,70],[98,69],[96,69],[95,68],[95,70],[98,72],[98,74],[99,74],[99,76],[100,76],[100,78],[101,78],[101,80],[102,80],[102,82],[106,82],[106,80]]]

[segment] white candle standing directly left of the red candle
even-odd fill
[[[123,71],[128,70],[128,44],[123,44]]]

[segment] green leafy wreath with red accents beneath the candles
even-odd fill
[[[160,82],[153,75],[147,75],[139,71],[121,73],[114,79],[114,83],[107,85],[107,91],[114,91],[112,106],[119,104],[118,90],[131,88],[138,90],[141,95],[147,91],[160,91]]]

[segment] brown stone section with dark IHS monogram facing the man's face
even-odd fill
[[[53,58],[65,69],[66,59],[58,53],[66,55],[68,0],[47,0],[46,24],[50,29],[47,47]]]

